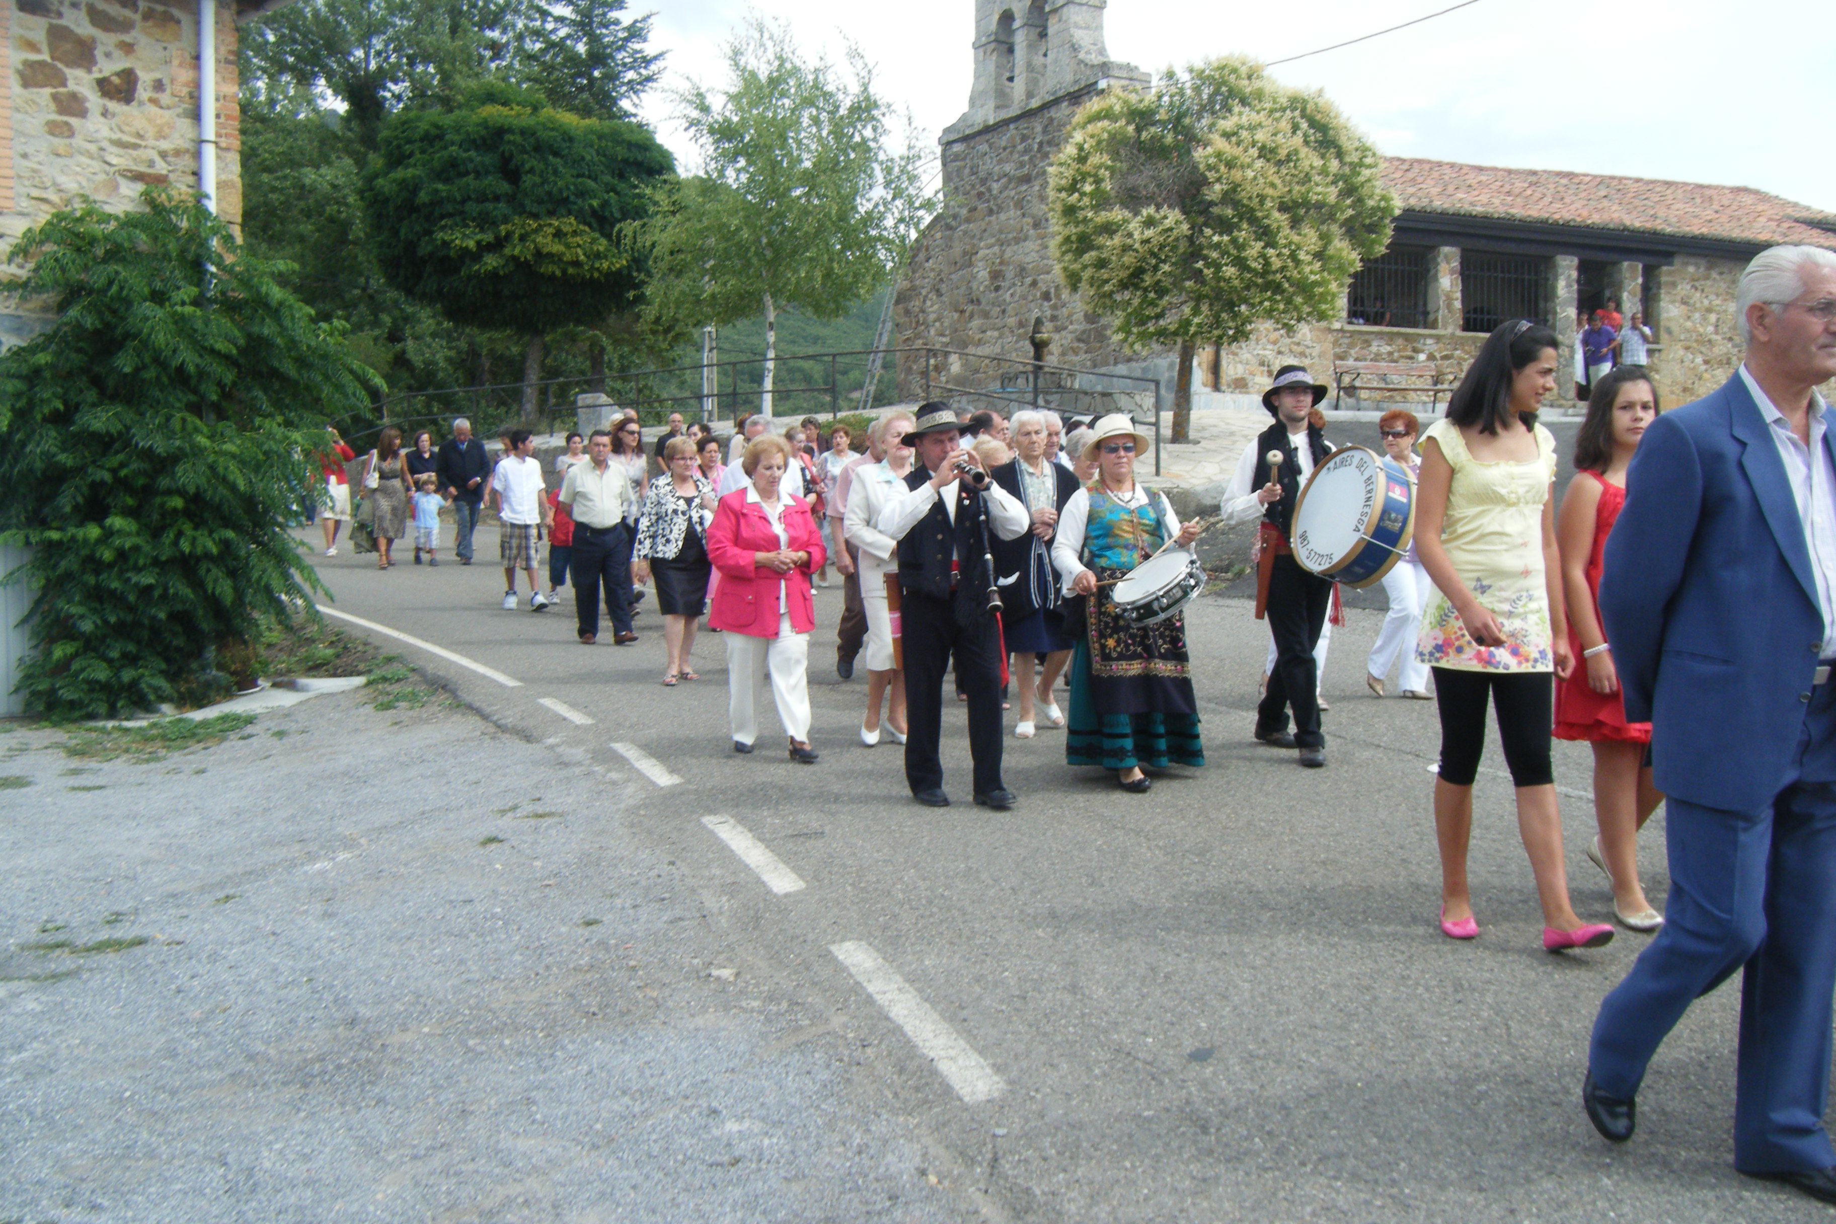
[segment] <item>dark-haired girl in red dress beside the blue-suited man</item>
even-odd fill
[[[1651,723],[1627,723],[1612,646],[1601,628],[1601,558],[1619,508],[1625,468],[1658,417],[1658,387],[1643,365],[1621,365],[1594,384],[1575,433],[1575,479],[1555,523],[1568,595],[1568,642],[1577,666],[1555,686],[1555,738],[1594,745],[1594,815],[1599,837],[1588,859],[1612,879],[1614,914],[1630,930],[1663,925],[1638,883],[1638,831],[1663,802],[1645,765]]]

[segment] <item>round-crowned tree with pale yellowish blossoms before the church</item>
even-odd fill
[[[1337,316],[1359,262],[1390,242],[1379,169],[1324,95],[1248,59],[1103,94],[1072,119],[1052,161],[1058,268],[1122,343],[1179,345],[1175,442],[1199,343]]]

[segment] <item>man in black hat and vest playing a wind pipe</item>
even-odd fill
[[[1001,780],[1001,595],[990,540],[1019,540],[1032,516],[999,488],[960,446],[962,426],[947,404],[922,404],[905,440],[918,464],[905,495],[892,497],[876,527],[900,541],[900,653],[905,661],[905,782],[929,807],[949,806],[938,738],[944,673],[957,655],[957,681],[969,707],[975,802],[1012,807]]]

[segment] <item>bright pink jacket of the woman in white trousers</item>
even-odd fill
[[[745,484],[722,497],[707,529],[707,556],[720,573],[707,622],[725,633],[777,637],[782,587],[789,598],[791,629],[810,633],[815,628],[810,574],[823,569],[828,556],[823,549],[823,532],[815,529],[810,503],[786,494],[784,534],[789,536],[789,545],[780,545],[778,532],[773,530],[764,508],[747,501],[749,492],[751,484]],[[810,563],[788,574],[755,563],[755,552],[777,552],[780,547],[808,552]]]

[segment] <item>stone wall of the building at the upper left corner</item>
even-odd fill
[[[196,7],[0,0],[0,246],[88,196],[127,209],[145,185],[198,185]],[[242,220],[235,11],[217,9],[217,211]],[[0,270],[17,277],[18,270]],[[15,310],[7,305],[6,310]],[[0,314],[0,343],[35,330]]]

